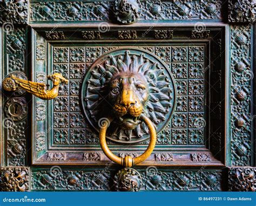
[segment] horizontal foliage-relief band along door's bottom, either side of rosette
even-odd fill
[[[153,171],[151,170],[153,169]],[[136,168],[142,175],[141,189],[147,191],[201,190],[218,191],[225,189],[221,185],[223,171],[150,168]],[[65,191],[65,190],[116,190],[118,187],[114,169],[71,169],[55,167],[50,169],[33,169],[31,191]],[[58,178],[58,181],[52,181]],[[76,184],[72,184],[76,182]],[[114,184],[112,183],[114,182]]]

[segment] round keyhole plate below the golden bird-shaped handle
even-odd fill
[[[4,113],[14,121],[21,121],[28,115],[28,105],[26,100],[21,97],[14,97],[6,101]]]

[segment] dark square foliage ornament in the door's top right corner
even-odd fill
[[[254,22],[256,4],[253,0],[229,0],[228,22]]]

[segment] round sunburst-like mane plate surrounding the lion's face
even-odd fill
[[[103,54],[90,67],[83,82],[82,99],[87,120],[99,131],[100,121],[113,114],[108,101],[109,83],[122,72],[143,75],[149,87],[149,99],[143,110],[156,126],[157,132],[169,122],[175,104],[175,87],[167,65],[157,56],[142,49],[120,48]],[[118,128],[114,122],[107,138],[119,143],[137,143],[149,138],[149,130],[140,123],[132,131]]]

